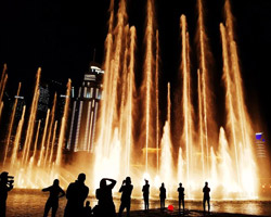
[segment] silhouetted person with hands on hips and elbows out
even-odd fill
[[[65,192],[60,187],[59,179],[54,179],[53,186],[42,189],[43,192],[49,191],[50,196],[47,200],[43,217],[48,216],[50,208],[52,208],[52,217],[55,217],[56,210],[59,208],[59,197],[65,195]],[[61,193],[61,194],[60,194]]]

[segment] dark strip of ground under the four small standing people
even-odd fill
[[[122,215],[126,216],[126,213]],[[144,210],[132,210],[130,213],[130,217],[166,217],[166,216],[204,216],[204,217],[253,217],[253,216],[259,216],[259,215],[244,215],[244,214],[229,214],[229,213],[210,213],[210,214],[204,214],[202,210],[184,210],[179,213],[179,210],[165,210],[162,212],[160,209],[150,209],[147,213]],[[263,216],[261,216],[263,217]]]

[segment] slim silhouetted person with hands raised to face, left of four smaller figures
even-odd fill
[[[122,192],[121,194],[121,203],[118,210],[118,216],[121,216],[124,209],[127,210],[127,216],[130,216],[130,207],[131,207],[131,193],[133,186],[131,184],[131,178],[126,177],[126,180],[122,181],[122,184],[118,192]]]

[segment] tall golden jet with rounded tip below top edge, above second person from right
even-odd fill
[[[181,52],[181,71],[182,71],[182,117],[183,117],[183,132],[181,143],[185,144],[185,164],[186,164],[186,184],[192,178],[193,168],[193,108],[191,102],[191,77],[190,77],[190,56],[189,56],[189,34],[186,29],[186,18],[184,15],[180,18],[181,37],[182,37],[182,52]],[[189,197],[191,196],[190,187],[188,188]]]

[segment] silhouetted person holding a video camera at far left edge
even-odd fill
[[[13,189],[13,178],[8,171],[0,175],[0,217],[5,217],[8,192]]]

